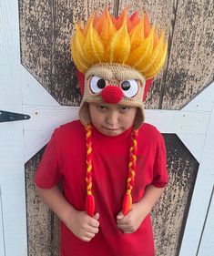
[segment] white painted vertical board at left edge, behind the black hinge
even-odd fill
[[[22,113],[17,1],[1,1],[0,27],[0,109]],[[24,165],[23,122],[1,122],[0,254],[3,256],[27,254]]]

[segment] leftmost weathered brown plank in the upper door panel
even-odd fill
[[[52,1],[19,0],[21,62],[36,79],[54,93],[51,85],[53,52]]]

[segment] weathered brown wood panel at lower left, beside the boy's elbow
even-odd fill
[[[25,163],[28,256],[50,256],[53,248],[53,213],[35,190],[34,176],[45,148]],[[56,236],[56,234],[55,234]],[[56,248],[56,246],[55,246]]]

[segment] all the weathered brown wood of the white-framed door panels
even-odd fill
[[[146,101],[146,108],[179,109],[213,80],[213,1],[41,1],[19,0],[23,66],[61,105],[81,100],[69,51],[74,23],[109,6],[117,15],[129,5],[148,10],[168,29],[168,60]],[[157,256],[178,255],[199,164],[176,135],[164,135],[168,150],[168,189],[152,212]],[[25,164],[28,251],[58,255],[59,222],[39,200],[33,178],[44,148]]]

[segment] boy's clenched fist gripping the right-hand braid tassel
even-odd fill
[[[117,227],[124,233],[133,233],[138,230],[138,227],[148,215],[150,210],[148,207],[142,209],[138,203],[132,204],[132,209],[123,215],[122,211],[117,214]]]

